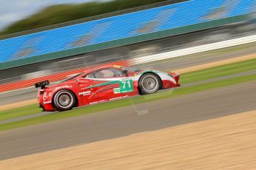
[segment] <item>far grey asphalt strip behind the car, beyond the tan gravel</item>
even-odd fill
[[[250,55],[256,53],[255,47],[249,47],[244,50],[238,50],[228,53],[214,53],[216,51],[204,52],[201,54],[194,54],[179,58],[172,58],[165,61],[151,62],[149,64],[138,65],[135,67],[144,69],[161,69],[171,70],[197,66],[200,64],[207,64],[214,61],[221,61],[229,58],[236,58],[243,55]],[[13,92],[6,92],[0,94],[0,106],[8,103],[14,103],[19,101],[26,101],[36,98],[37,90],[35,88],[21,89]]]

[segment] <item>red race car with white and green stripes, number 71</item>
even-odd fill
[[[76,106],[91,105],[134,95],[146,95],[178,84],[175,72],[140,70],[122,66],[85,69],[59,84],[36,83],[39,106],[45,111],[65,111]]]

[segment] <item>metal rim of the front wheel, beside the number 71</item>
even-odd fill
[[[146,92],[155,92],[158,89],[158,81],[154,76],[148,75],[142,79],[142,88]]]

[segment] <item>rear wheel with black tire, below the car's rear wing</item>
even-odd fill
[[[76,96],[68,89],[59,90],[54,95],[53,104],[58,111],[72,109],[76,104]]]

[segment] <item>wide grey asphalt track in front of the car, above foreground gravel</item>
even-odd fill
[[[256,109],[256,81],[0,132],[0,160]],[[151,139],[148,139],[151,140]]]

